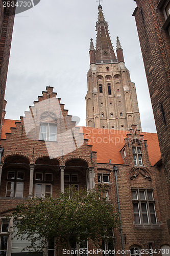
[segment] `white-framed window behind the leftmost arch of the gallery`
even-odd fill
[[[23,197],[24,172],[9,171],[7,176],[6,197]]]

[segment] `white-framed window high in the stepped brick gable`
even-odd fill
[[[40,124],[40,140],[57,141],[57,125],[54,123]]]

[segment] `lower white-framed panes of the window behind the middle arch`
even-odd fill
[[[36,183],[35,184],[35,197],[50,197],[53,194],[52,184]]]

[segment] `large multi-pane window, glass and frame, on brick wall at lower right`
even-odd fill
[[[132,202],[136,225],[157,224],[155,201],[152,190],[132,190]]]

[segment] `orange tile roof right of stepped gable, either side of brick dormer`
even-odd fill
[[[129,131],[83,127],[83,132],[88,144],[93,145],[92,151],[98,152],[98,163],[109,163],[111,159],[112,163],[125,164],[120,150],[125,145],[124,139],[127,138]],[[144,135],[144,140],[147,140],[149,159],[154,165],[161,157],[157,134],[142,132],[141,134]]]

